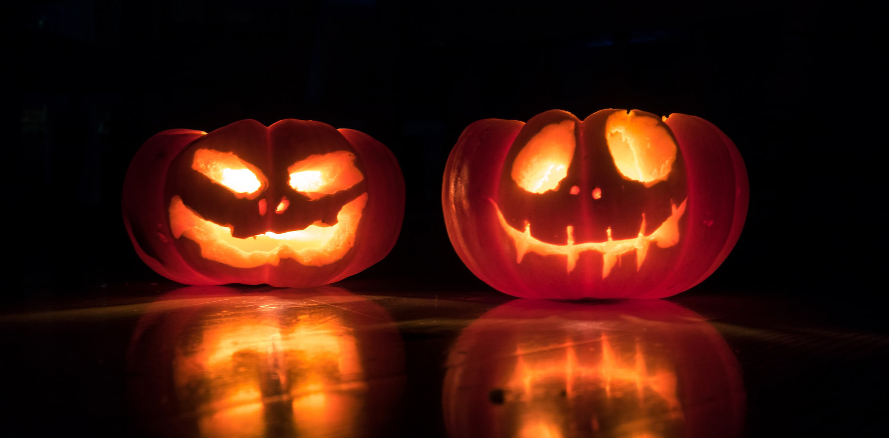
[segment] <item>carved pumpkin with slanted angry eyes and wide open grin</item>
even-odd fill
[[[310,287],[382,259],[404,217],[404,179],[380,142],[300,120],[156,134],[124,181],[140,258],[188,284]]]

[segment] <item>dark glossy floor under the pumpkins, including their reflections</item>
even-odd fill
[[[885,436],[866,308],[109,285],[0,307],[5,436]]]

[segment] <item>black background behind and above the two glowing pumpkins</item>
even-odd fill
[[[158,281],[119,212],[157,131],[244,118],[393,150],[402,234],[360,278],[477,282],[447,241],[445,161],[478,119],[551,108],[699,115],[743,155],[747,224],[706,285],[877,299],[885,140],[874,11],[828,2],[68,0],[4,6],[4,209],[27,291]],[[869,171],[874,166],[874,171]],[[11,170],[11,171],[10,171]],[[17,224],[17,225],[15,225]]]

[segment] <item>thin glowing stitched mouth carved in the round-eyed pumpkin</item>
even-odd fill
[[[669,218],[664,220],[661,227],[658,227],[650,235],[645,235],[645,214],[642,216],[642,227],[639,227],[639,235],[631,239],[613,240],[611,238],[611,228],[609,227],[608,240],[605,242],[584,242],[574,243],[574,227],[565,227],[568,232],[568,243],[559,245],[555,243],[541,242],[531,235],[531,224],[525,221],[525,230],[519,231],[507,223],[506,218],[500,207],[493,199],[489,199],[497,209],[497,217],[500,219],[501,227],[506,231],[507,235],[512,237],[516,244],[516,263],[522,263],[522,259],[528,252],[535,252],[541,255],[565,255],[565,268],[568,273],[573,271],[577,264],[577,259],[581,257],[582,251],[597,251],[602,253],[602,278],[611,274],[611,269],[618,261],[618,256],[629,251],[636,251],[636,269],[642,267],[645,262],[645,256],[648,254],[648,247],[652,243],[659,248],[669,248],[679,242],[679,219],[685,214],[685,202],[688,198],[677,205],[670,203],[672,213]]]

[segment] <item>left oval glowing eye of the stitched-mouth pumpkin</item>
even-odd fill
[[[532,193],[556,190],[568,176],[576,144],[573,121],[549,124],[518,153],[510,176],[518,187]]]

